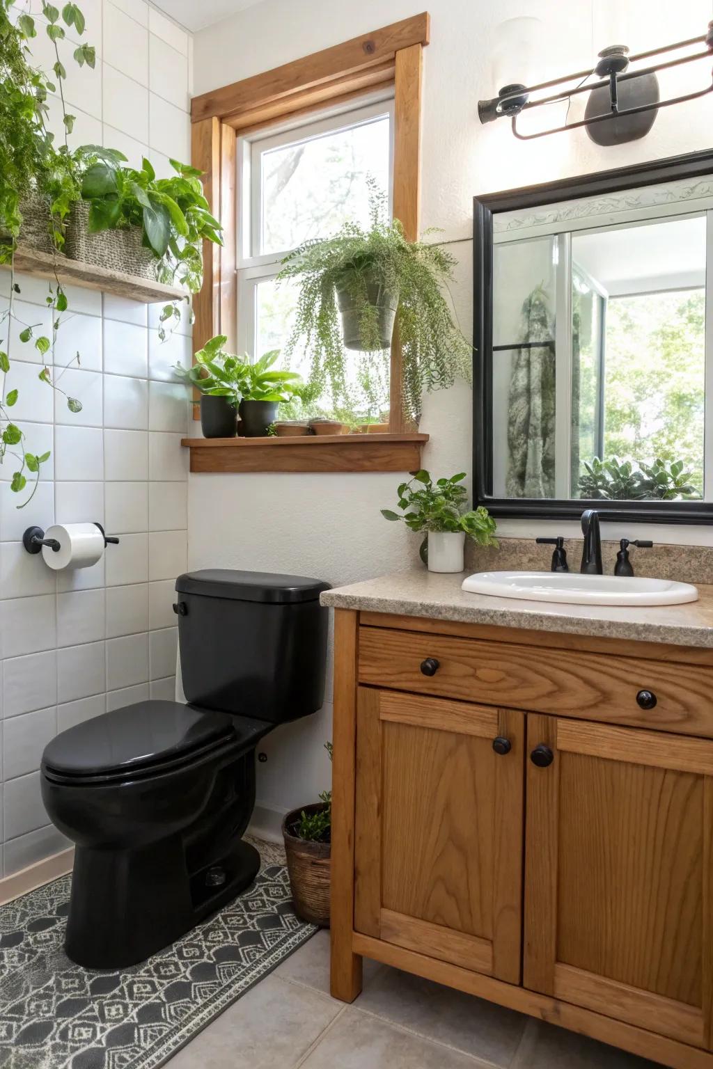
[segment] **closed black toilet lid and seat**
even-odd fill
[[[46,746],[43,769],[73,777],[145,772],[238,741],[242,719],[177,701],[140,701],[62,731]]]

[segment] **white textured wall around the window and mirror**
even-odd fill
[[[429,0],[432,42],[425,49],[423,106],[423,227],[454,242],[460,268],[455,299],[462,325],[471,323],[471,200],[476,193],[710,146],[711,97],[664,111],[641,141],[596,148],[583,131],[529,144],[507,122],[483,127],[479,97],[498,88],[505,19],[543,24],[541,50],[523,80],[591,67],[602,47],[626,42],[634,51],[703,33],[710,0]],[[414,0],[263,0],[195,38],[197,93],[269,69],[421,10]],[[698,65],[698,84],[710,63]],[[664,87],[665,88],[665,87]],[[431,434],[424,465],[438,475],[471,468],[470,396],[463,388],[425,399],[422,430]],[[284,570],[341,584],[406,567],[416,542],[388,525],[378,509],[392,503],[391,475],[190,476],[189,564]],[[569,525],[560,524],[561,533]],[[574,528],[574,525],[571,525]],[[537,532],[547,530],[537,525]],[[511,523],[501,530],[536,525]],[[613,530],[613,529],[611,529]],[[607,532],[608,533],[608,532]],[[614,530],[613,530],[614,533]],[[627,533],[627,532],[623,532]],[[709,529],[656,528],[660,541],[706,541]],[[259,803],[285,809],[311,801],[329,778],[321,743],[330,707],[265,741]]]

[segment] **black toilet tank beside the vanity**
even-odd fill
[[[206,569],[175,583],[186,699],[278,724],[324,701],[322,579]]]

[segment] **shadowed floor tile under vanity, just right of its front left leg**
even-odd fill
[[[527,1018],[397,969],[383,969],[354,1003],[428,1039],[509,1066]]]

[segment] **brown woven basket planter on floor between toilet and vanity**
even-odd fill
[[[303,807],[313,814],[324,809],[322,802]],[[282,821],[284,851],[295,913],[300,920],[329,927],[329,857],[330,842],[299,839],[294,833],[303,808],[293,809]]]

